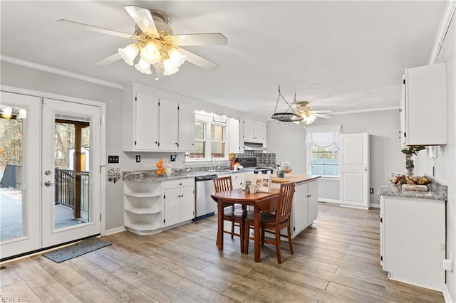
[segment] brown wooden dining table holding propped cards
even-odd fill
[[[219,251],[223,250],[223,213],[226,206],[234,203],[254,207],[254,259],[260,261],[260,235],[261,235],[261,211],[272,213],[276,210],[279,189],[271,189],[269,193],[246,193],[241,188],[231,191],[219,191],[212,193],[211,197],[217,202],[217,246]]]

